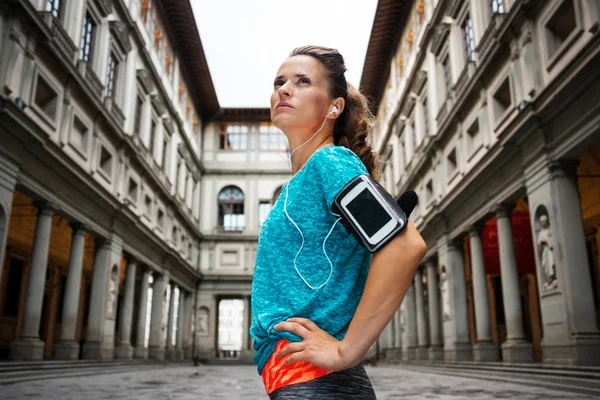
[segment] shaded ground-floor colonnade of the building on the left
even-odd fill
[[[191,356],[192,296],[168,274],[25,191],[15,191],[6,222],[1,358]]]

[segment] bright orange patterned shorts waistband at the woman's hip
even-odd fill
[[[284,386],[312,381],[333,372],[317,367],[307,361],[298,361],[290,365],[285,365],[284,362],[288,356],[276,358],[275,354],[288,343],[285,339],[277,342],[273,354],[271,354],[269,361],[267,361],[267,364],[263,368],[262,378],[268,395]]]

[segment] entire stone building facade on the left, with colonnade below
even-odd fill
[[[175,3],[0,4],[2,358],[192,354],[219,105]]]

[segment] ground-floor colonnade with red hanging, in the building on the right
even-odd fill
[[[599,244],[596,145],[440,238],[381,335],[380,356],[595,364]]]

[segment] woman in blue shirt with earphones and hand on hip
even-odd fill
[[[252,283],[254,360],[271,399],[374,399],[360,364],[424,256],[409,223],[371,255],[330,211],[358,175],[378,175],[372,115],[334,49],[301,47],[281,65],[271,119],[294,176],[264,222]]]

